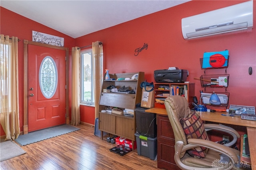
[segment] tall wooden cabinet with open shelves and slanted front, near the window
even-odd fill
[[[132,78],[133,75],[138,74],[138,79],[124,80],[124,78]],[[136,140],[136,118],[134,116],[117,115],[108,112],[101,112],[107,107],[118,107],[119,109],[135,109],[136,104],[141,102],[142,88],[140,83],[144,81],[144,72],[138,73],[116,73],[109,74],[111,79],[104,80],[102,83],[102,91],[100,96],[100,114],[99,114],[99,130],[127,138],[132,140],[132,146]],[[121,80],[120,80],[121,79]],[[106,89],[110,85],[114,85],[117,89],[125,86],[136,91],[131,93],[106,93]],[[102,136],[103,138],[103,136]]]

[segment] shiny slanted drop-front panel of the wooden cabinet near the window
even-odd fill
[[[135,95],[124,93],[101,93],[100,105],[133,109]]]

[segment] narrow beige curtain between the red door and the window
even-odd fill
[[[80,48],[72,47],[71,124],[80,124]]]

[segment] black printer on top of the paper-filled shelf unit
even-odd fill
[[[188,77],[188,70],[155,70],[154,77],[156,83],[184,83]]]

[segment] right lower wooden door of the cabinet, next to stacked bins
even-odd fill
[[[135,140],[134,119],[116,117],[116,134],[122,134],[123,138]]]

